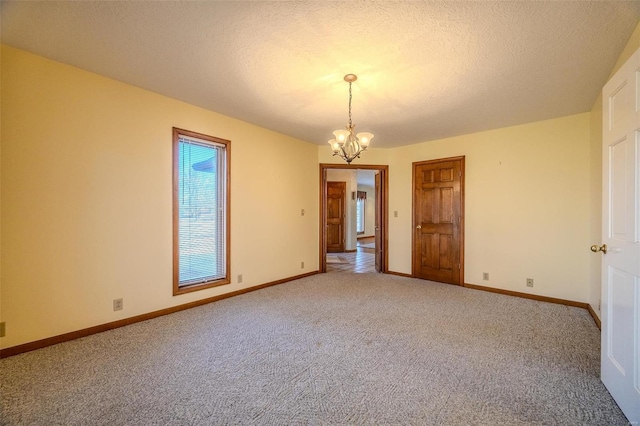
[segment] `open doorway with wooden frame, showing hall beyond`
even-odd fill
[[[320,272],[387,272],[387,194],[388,166],[320,164]]]

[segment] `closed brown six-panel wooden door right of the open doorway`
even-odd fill
[[[413,276],[462,285],[464,157],[413,163]]]

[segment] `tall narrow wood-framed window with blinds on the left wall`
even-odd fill
[[[173,129],[173,294],[228,284],[231,142]]]

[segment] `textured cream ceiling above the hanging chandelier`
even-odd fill
[[[2,2],[2,42],[302,140],[391,147],[589,111],[637,1]]]

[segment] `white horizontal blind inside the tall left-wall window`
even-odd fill
[[[179,286],[226,277],[225,145],[178,137]]]

